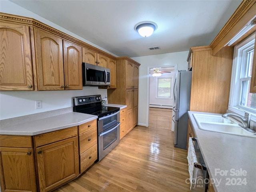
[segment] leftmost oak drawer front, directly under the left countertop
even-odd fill
[[[31,148],[32,137],[26,135],[0,135],[0,147]]]

